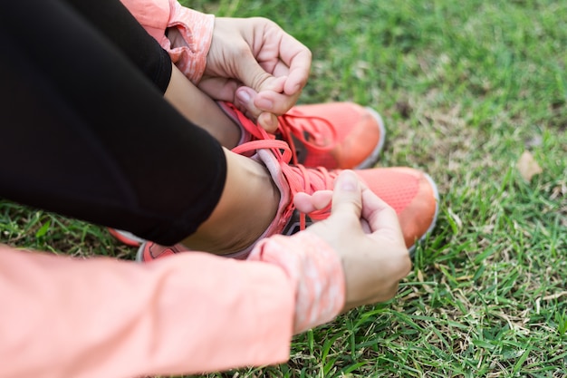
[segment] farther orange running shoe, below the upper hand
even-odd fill
[[[364,169],[373,166],[384,146],[386,129],[377,111],[353,102],[296,105],[278,117],[274,135],[262,133],[232,103],[221,109],[241,127],[241,143],[280,139],[292,150],[293,164],[333,169]]]

